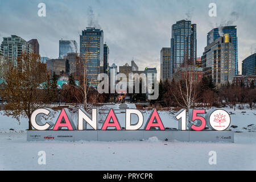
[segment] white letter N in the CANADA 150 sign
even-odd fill
[[[85,127],[84,127],[85,121]],[[79,109],[79,123],[78,130],[86,129],[86,123],[88,123],[94,130],[97,130],[97,109],[92,109],[92,117],[84,109]]]

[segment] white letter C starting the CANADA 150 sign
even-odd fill
[[[31,114],[31,125],[34,127],[36,130],[48,130],[51,127],[53,127],[52,122],[46,122],[45,124],[42,123],[41,117],[43,114],[46,115],[52,115],[53,110],[52,109],[36,109],[33,111]]]

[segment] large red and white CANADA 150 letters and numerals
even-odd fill
[[[97,130],[97,109],[92,109],[92,115],[86,113],[84,109],[79,109],[79,117],[77,126],[72,120],[71,114],[68,109],[62,109],[56,123],[41,121],[43,115],[52,115],[51,109],[36,109],[31,115],[31,124],[36,130],[86,130],[86,123],[92,127],[93,130]],[[138,121],[135,124],[131,123],[131,114],[135,114],[138,117]],[[230,125],[230,115],[227,111],[217,109],[203,116],[204,109],[191,109],[187,113],[185,109],[181,109],[176,115],[176,119],[179,121],[179,130],[185,131],[187,127],[191,130],[201,131],[208,126],[212,130],[223,131]],[[137,109],[126,109],[125,112],[125,130],[139,130],[143,125],[143,114]],[[187,124],[188,123],[188,124]],[[114,127],[116,130],[122,130],[121,125],[118,122],[117,116],[113,109],[110,109],[101,130],[108,130],[109,127]],[[147,119],[147,123],[144,126],[144,130],[150,130],[151,127],[158,127],[159,130],[165,130],[163,122],[159,117],[158,111],[153,109],[150,117]]]

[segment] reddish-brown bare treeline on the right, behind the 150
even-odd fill
[[[245,104],[249,104],[252,109],[255,106],[256,89],[254,81],[251,81],[250,86],[245,86],[243,83],[240,85],[228,83],[218,88],[212,78],[203,77],[199,83],[194,83],[192,86],[195,86],[193,92],[196,92],[196,94],[191,94],[195,97],[192,107],[203,106],[209,109],[212,106],[222,107],[228,105],[230,108],[235,109],[235,106],[238,105],[240,109],[244,109]],[[185,92],[187,92],[187,88],[184,80],[180,82],[175,82],[174,80],[162,82],[160,80],[158,100],[150,103],[161,107],[186,107],[184,100],[187,100],[187,97],[183,100],[183,97],[187,96],[183,94]]]

